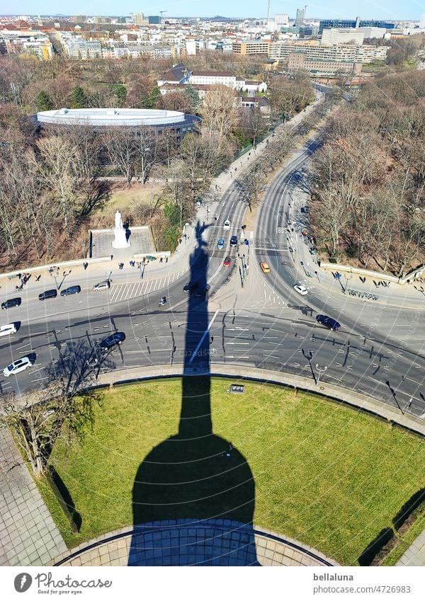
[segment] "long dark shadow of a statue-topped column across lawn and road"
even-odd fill
[[[208,254],[196,228],[191,280],[207,283]],[[259,565],[249,464],[212,431],[208,297],[188,298],[179,432],[143,459],[132,490],[130,566]]]

